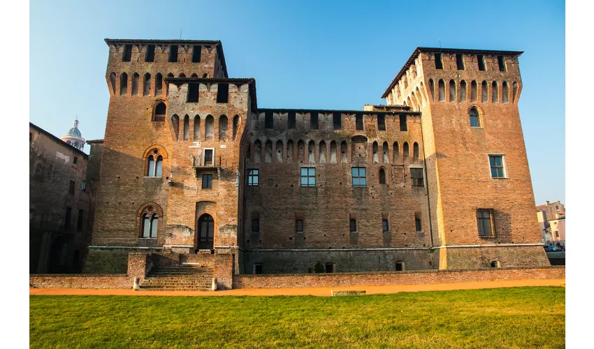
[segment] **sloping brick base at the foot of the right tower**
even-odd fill
[[[440,269],[477,269],[491,267],[497,261],[502,268],[549,267],[551,263],[542,246],[495,246],[442,248],[447,266]]]

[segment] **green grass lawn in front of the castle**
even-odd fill
[[[30,296],[31,348],[565,346],[565,288],[350,297]]]

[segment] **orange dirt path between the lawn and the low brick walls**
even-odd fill
[[[482,281],[471,283],[430,283],[426,285],[349,286],[321,288],[254,288],[221,291],[135,291],[98,290],[91,288],[29,288],[29,295],[95,295],[95,296],[330,296],[331,290],[365,290],[367,295],[379,293],[419,292],[437,290],[472,290],[522,286],[565,286],[565,279]]]

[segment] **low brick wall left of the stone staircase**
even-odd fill
[[[131,289],[134,278],[127,274],[31,274],[35,288],[119,288]]]

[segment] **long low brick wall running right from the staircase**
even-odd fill
[[[339,286],[420,285],[528,279],[565,279],[565,267],[419,270],[333,274],[235,275],[233,288],[307,288]]]

